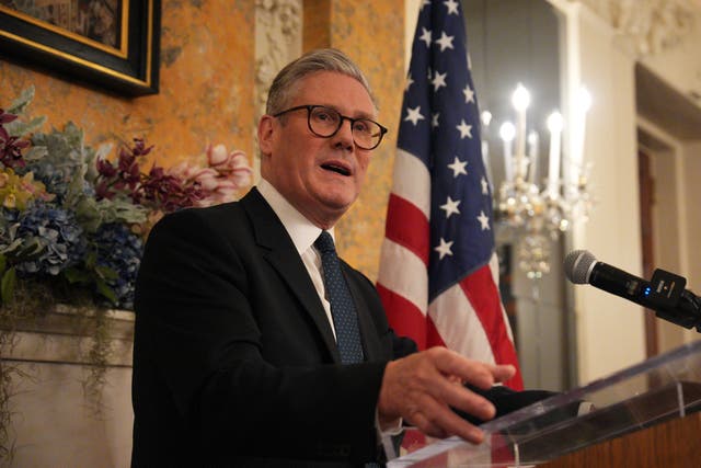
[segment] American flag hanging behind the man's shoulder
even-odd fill
[[[513,364],[498,293],[492,193],[482,160],[464,20],[457,0],[423,0],[399,129],[377,288],[390,324],[420,349]]]

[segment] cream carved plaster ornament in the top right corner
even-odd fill
[[[621,35],[632,39],[641,56],[678,45],[694,27],[698,0],[571,0],[589,7]]]

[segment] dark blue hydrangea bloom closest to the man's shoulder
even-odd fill
[[[97,247],[97,264],[114,270],[118,277],[107,281],[117,296],[117,306],[134,308],[134,286],[141,264],[143,244],[141,239],[122,224],[100,226],[92,241]]]

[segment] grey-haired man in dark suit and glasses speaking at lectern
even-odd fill
[[[365,77],[337,50],[312,52],[276,77],[266,112],[257,187],[166,216],[150,235],[135,304],[133,465],[361,466],[382,458],[382,434],[402,421],[480,442],[451,408],[480,420],[495,409],[459,384],[489,389],[513,367],[417,353],[344,262],[358,358],[336,344],[348,330],[315,242],[333,238],[386,132]]]

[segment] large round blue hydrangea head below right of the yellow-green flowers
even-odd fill
[[[38,259],[20,263],[18,272],[58,275],[64,269],[79,263],[85,253],[83,230],[72,212],[35,203],[19,214],[19,238],[38,238],[45,246]]]

